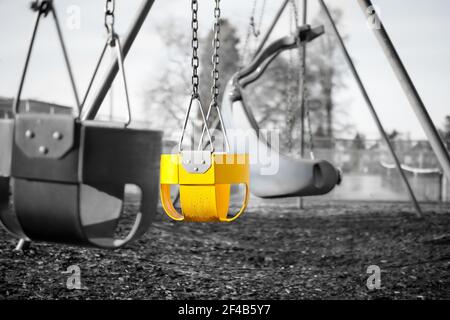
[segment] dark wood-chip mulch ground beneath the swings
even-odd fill
[[[449,299],[450,205],[254,206],[231,224],[174,223],[114,251],[33,244],[0,231],[0,299]],[[82,289],[66,288],[71,265]],[[381,268],[369,290],[367,267]]]

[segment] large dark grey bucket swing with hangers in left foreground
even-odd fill
[[[114,0],[105,5],[107,41],[81,104],[53,1],[34,1],[36,22],[28,48],[14,117],[0,122],[2,183],[0,220],[23,241],[117,248],[142,236],[156,212],[158,159],[162,135],[158,131],[131,129],[123,51],[114,30]],[[19,110],[33,45],[41,19],[50,14],[55,22],[72,91],[75,116]],[[128,118],[125,123],[91,121],[93,106],[86,98],[107,48],[115,49],[123,80]],[[83,116],[81,112],[84,112]],[[111,161],[114,159],[114,161]],[[132,223],[120,232],[125,187],[140,189],[140,204]],[[125,233],[123,236],[122,234]]]

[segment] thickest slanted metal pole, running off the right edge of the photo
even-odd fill
[[[445,148],[445,144],[439,136],[439,133],[434,126],[433,121],[431,120],[430,115],[428,114],[427,109],[425,108],[425,105],[423,104],[422,99],[420,98],[419,93],[414,86],[414,83],[409,77],[409,74],[402,63],[400,56],[395,50],[394,44],[389,38],[389,35],[387,34],[386,29],[384,28],[384,25],[380,20],[380,17],[375,12],[375,9],[370,0],[358,0],[358,2],[364,14],[370,13],[371,15],[374,15],[377,25],[376,27],[371,29],[378,39],[378,42],[383,49],[383,52],[386,55],[386,58],[388,59],[392,70],[394,71],[398,81],[400,82],[400,85],[403,88],[406,97],[408,98],[409,104],[411,105],[417,119],[422,125],[422,128],[425,131],[428,140],[430,141],[431,147],[433,148],[433,151],[436,154],[439,163],[441,164],[447,178],[450,179],[450,155]]]

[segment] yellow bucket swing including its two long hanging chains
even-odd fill
[[[227,132],[220,113],[219,96],[219,32],[220,1],[215,1],[214,8],[214,40],[212,55],[212,98],[205,117],[198,94],[198,20],[197,0],[192,0],[192,96],[186,112],[177,154],[163,154],[160,163],[160,194],[166,214],[176,221],[193,222],[231,222],[236,220],[247,207],[249,199],[250,165],[248,154],[230,153]],[[183,137],[193,104],[198,105],[203,120],[203,130],[197,150],[183,150]],[[215,152],[208,120],[212,109],[217,111],[222,133],[225,138],[227,152]],[[205,131],[209,138],[209,151],[203,148]],[[243,184],[245,196],[239,211],[229,215],[231,185]],[[171,186],[178,185],[181,212],[178,212],[170,196]]]

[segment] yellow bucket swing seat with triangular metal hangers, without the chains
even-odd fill
[[[193,97],[189,110],[193,102],[200,104],[198,98]],[[210,139],[211,150],[184,151],[182,141],[189,110],[180,139],[179,153],[161,155],[160,191],[164,211],[176,221],[231,222],[236,220],[244,212],[249,200],[249,155],[214,152],[203,111],[201,114]],[[200,110],[202,110],[201,104]],[[220,112],[218,108],[217,110]],[[227,139],[225,129],[223,134]],[[235,215],[229,215],[231,185],[236,184],[245,186],[245,196],[239,211]],[[172,203],[170,192],[172,185],[179,185],[181,212],[178,212]]]

